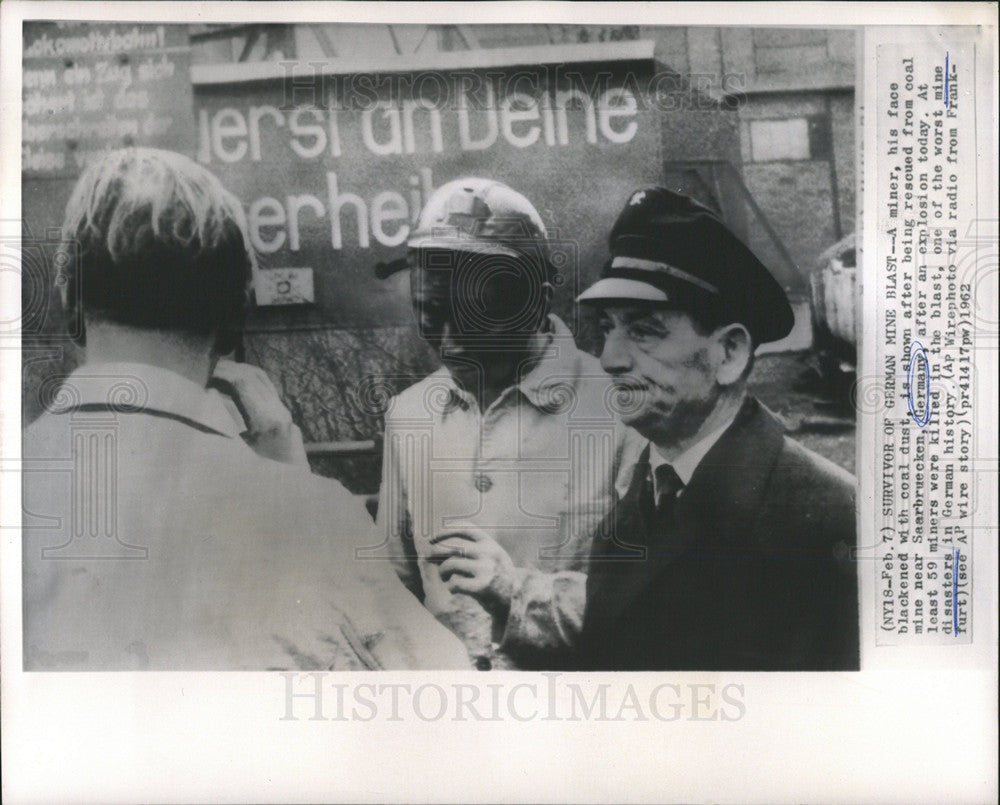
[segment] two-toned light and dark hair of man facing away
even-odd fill
[[[80,261],[67,301],[88,316],[204,335],[242,326],[254,265],[243,207],[181,154],[127,148],[92,163],[62,237]]]

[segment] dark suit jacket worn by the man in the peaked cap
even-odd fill
[[[594,541],[580,668],[857,669],[854,479],[748,399],[655,533],[648,451]]]

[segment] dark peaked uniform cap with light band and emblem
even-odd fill
[[[609,245],[611,259],[601,279],[578,301],[683,307],[692,293],[704,294],[743,324],[755,343],[778,341],[792,331],[792,307],[771,272],[712,210],[688,196],[662,187],[634,192]]]

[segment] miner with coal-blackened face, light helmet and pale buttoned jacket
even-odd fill
[[[475,667],[555,667],[626,445],[613,389],[550,312],[552,243],[520,193],[450,182],[408,246],[417,330],[442,365],[386,415],[386,546]]]

